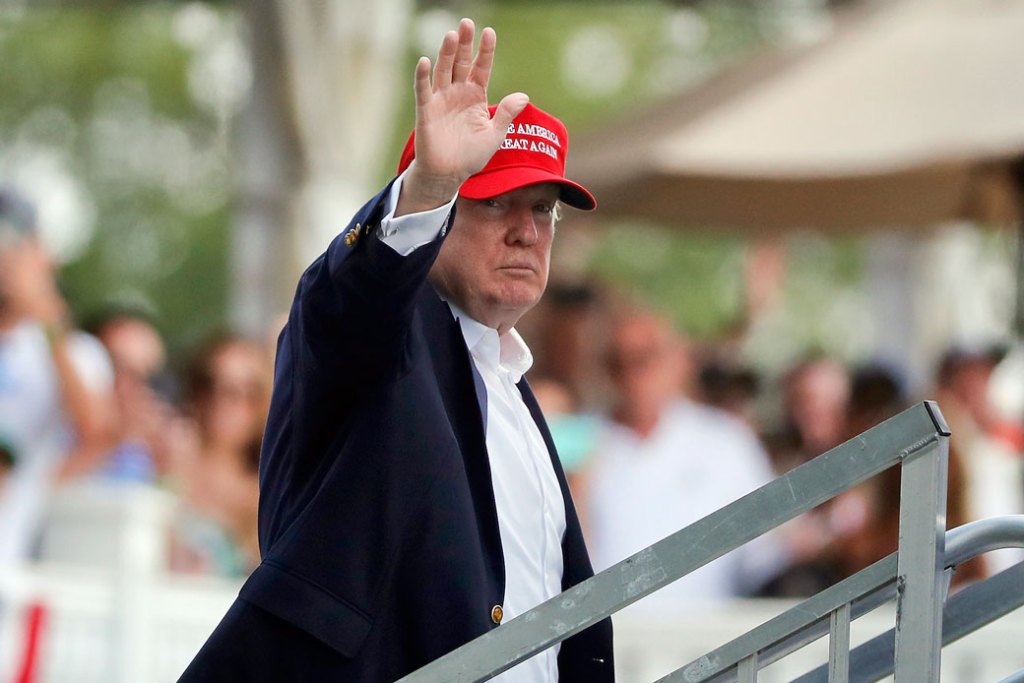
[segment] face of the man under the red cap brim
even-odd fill
[[[527,185],[487,200],[459,198],[430,281],[452,303],[505,332],[548,284],[558,185]]]

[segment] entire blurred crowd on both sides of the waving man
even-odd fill
[[[179,360],[144,310],[74,312],[33,208],[0,193],[0,562],[35,557],[53,492],[96,480],[174,496],[172,570],[246,575],[259,560],[271,344],[218,333]],[[932,385],[911,395],[901,369],[817,353],[759,372],[737,335],[692,342],[669,316],[596,285],[552,286],[520,328],[595,569],[926,397],[953,432],[947,526],[1024,512],[1024,416],[1008,418],[990,399],[998,348],[949,349]],[[894,469],[634,609],[810,595],[893,552],[898,509]],[[974,561],[954,581],[1019,559]]]

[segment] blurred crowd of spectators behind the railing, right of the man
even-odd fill
[[[771,264],[774,268],[775,264]],[[752,278],[759,287],[771,278]],[[757,305],[771,297],[751,292]],[[946,526],[1024,512],[1024,415],[997,410],[993,373],[1008,349],[947,349],[928,386],[905,369],[808,352],[769,373],[728,337],[689,340],[660,314],[600,285],[549,289],[523,321],[530,375],[563,458],[595,569],[603,569],[772,478],[935,399],[950,426]],[[726,597],[804,597],[897,549],[893,468],[684,577],[628,610],[671,615]],[[1024,559],[990,553],[954,586]]]

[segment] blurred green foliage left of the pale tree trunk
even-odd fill
[[[217,39],[220,19],[186,11],[0,16],[0,179],[39,206],[79,315],[141,305],[174,341],[220,324],[227,287],[225,121],[190,84],[205,49],[190,36]]]

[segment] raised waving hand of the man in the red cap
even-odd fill
[[[487,112],[487,83],[497,36],[486,28],[473,56],[475,29],[468,18],[444,35],[437,61],[416,65],[416,158],[409,167],[396,215],[449,202],[469,176],[483,168],[529,98],[516,92]]]

